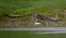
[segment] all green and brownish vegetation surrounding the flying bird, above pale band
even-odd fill
[[[6,17],[3,14],[30,14],[30,13],[40,13],[46,16],[54,16],[54,17],[61,17],[63,22],[52,23],[48,21],[44,21],[42,25],[64,25],[66,26],[66,0],[0,0],[0,22],[3,21],[30,21],[30,16],[28,17],[16,17],[16,18],[9,18]],[[34,17],[32,17],[34,18]],[[28,21],[28,22],[29,22]],[[42,21],[41,21],[42,22]],[[32,24],[32,23],[31,23]],[[30,24],[30,25],[31,25]],[[6,24],[4,24],[6,25]],[[4,26],[3,24],[0,24],[0,26]],[[21,24],[23,25],[23,24]],[[20,26],[21,26],[20,25]],[[28,25],[28,24],[25,24]],[[33,25],[33,24],[32,24]],[[56,26],[57,26],[56,25]],[[9,24],[8,24],[9,26]]]

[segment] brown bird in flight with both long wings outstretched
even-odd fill
[[[50,17],[50,16],[45,16],[45,15],[41,15],[41,14],[25,14],[25,15],[20,15],[20,14],[4,14],[4,16],[8,16],[8,17],[25,17],[25,16],[33,16],[35,17],[35,20],[48,20],[48,21],[52,21],[52,22],[56,22],[56,21],[59,21],[61,18],[59,17]]]

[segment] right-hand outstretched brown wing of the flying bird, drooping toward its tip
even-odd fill
[[[56,22],[56,21],[61,20],[59,17],[50,17],[50,16],[45,16],[45,15],[41,15],[41,14],[35,14],[35,18],[37,18],[37,20],[48,20],[48,21],[52,21],[52,22]]]

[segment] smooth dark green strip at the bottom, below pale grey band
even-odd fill
[[[12,30],[0,30],[0,38],[66,38],[66,34],[47,34],[40,35],[34,34],[35,31],[12,31]]]

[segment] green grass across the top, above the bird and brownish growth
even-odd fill
[[[48,11],[52,9],[66,9],[66,0],[0,0],[2,13],[29,13]]]

